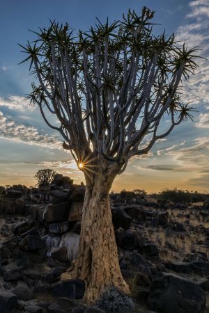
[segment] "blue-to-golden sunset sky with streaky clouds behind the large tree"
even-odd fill
[[[209,1],[208,0],[0,0],[0,185],[34,186],[37,170],[52,168],[70,176],[76,184],[83,173],[63,150],[63,139],[49,129],[38,108],[24,95],[33,77],[20,46],[33,40],[29,31],[49,25],[49,19],[68,22],[75,29],[88,30],[95,17],[105,21],[121,19],[128,8],[143,6],[156,11],[155,32],[176,33],[190,47],[199,46],[199,68],[185,84],[185,101],[198,112],[194,122],[183,122],[146,157],[134,158],[112,186],[114,191],[144,188],[158,192],[182,188],[209,192]],[[167,121],[165,120],[165,123]]]

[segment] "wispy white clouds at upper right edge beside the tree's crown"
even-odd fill
[[[189,47],[199,46],[199,55],[208,57],[209,51],[209,2],[194,0],[189,3],[190,12],[186,15],[186,23],[178,28],[177,39]],[[189,83],[184,86],[185,101],[192,104],[208,104],[209,65],[208,60],[197,58],[199,67]]]

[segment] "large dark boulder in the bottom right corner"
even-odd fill
[[[148,303],[161,313],[203,313],[206,296],[198,284],[159,272],[151,282]]]

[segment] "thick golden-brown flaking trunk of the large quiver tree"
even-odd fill
[[[91,170],[86,175],[84,171],[84,174],[86,194],[73,277],[85,281],[84,300],[93,303],[106,288],[114,286],[129,293],[129,287],[123,280],[119,266],[109,206],[109,191],[116,172],[103,160],[95,168],[95,172]]]

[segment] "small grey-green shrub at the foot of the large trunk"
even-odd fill
[[[134,301],[115,287],[105,290],[95,305],[107,313],[132,313],[135,307]]]

